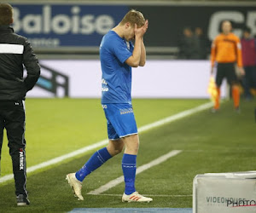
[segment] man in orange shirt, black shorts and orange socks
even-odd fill
[[[239,112],[240,91],[235,65],[237,63],[241,75],[244,75],[241,60],[241,43],[239,37],[231,32],[232,25],[229,20],[223,21],[221,29],[222,33],[215,37],[211,49],[211,73],[213,73],[213,67],[217,64],[216,86],[218,92],[212,112],[217,112],[219,109],[220,86],[224,78],[230,84],[234,107],[236,112]]]

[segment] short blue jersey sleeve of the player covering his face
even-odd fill
[[[123,40],[116,40],[115,43],[113,43],[113,54],[122,64],[132,55]]]

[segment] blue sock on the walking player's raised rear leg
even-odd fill
[[[84,166],[76,172],[76,178],[79,181],[84,181],[85,176],[88,176],[92,171],[99,168],[112,156],[108,153],[107,147],[104,147],[94,153]]]

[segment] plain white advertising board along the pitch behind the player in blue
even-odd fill
[[[100,98],[99,60],[40,60],[41,77],[27,97]],[[148,60],[132,68],[133,98],[209,98],[208,60]],[[221,90],[226,95],[225,83]]]

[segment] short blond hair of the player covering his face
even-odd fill
[[[135,24],[137,24],[137,27],[142,27],[145,24],[145,19],[141,12],[131,9],[127,14],[125,14],[125,17],[119,24],[123,26],[127,22],[129,22],[133,27]]]

